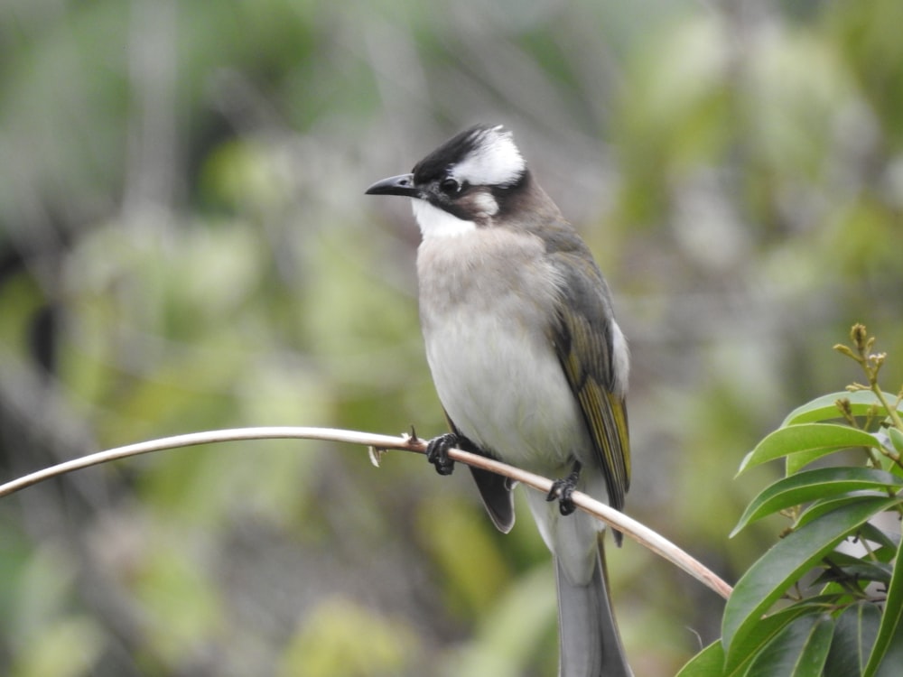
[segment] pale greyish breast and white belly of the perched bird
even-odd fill
[[[421,318],[433,382],[471,441],[514,465],[559,476],[591,443],[547,336],[554,275],[541,251],[511,264],[512,247],[521,246],[523,256],[532,243],[478,233],[421,246]],[[480,256],[469,256],[478,237]]]

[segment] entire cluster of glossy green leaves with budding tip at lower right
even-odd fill
[[[774,459],[785,473],[753,498],[733,533],[768,515],[790,524],[738,581],[721,639],[680,677],[899,673],[903,391],[880,390],[884,356],[871,353],[874,338],[861,325],[852,343],[835,348],[860,363],[868,385],[797,408],[743,459],[740,473]]]

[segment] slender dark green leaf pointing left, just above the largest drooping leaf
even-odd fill
[[[740,522],[734,527],[731,537],[750,522],[793,505],[851,491],[887,487],[903,487],[903,478],[870,468],[819,468],[797,473],[778,480],[759,493],[740,516]]]

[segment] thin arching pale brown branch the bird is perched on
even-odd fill
[[[125,447],[98,451],[97,453],[88,454],[88,456],[83,456],[79,459],[71,459],[59,463],[50,468],[42,468],[29,475],[16,478],[0,485],[0,498],[14,494],[16,491],[20,491],[25,487],[31,487],[45,479],[59,477],[60,475],[72,472],[73,470],[90,468],[91,466],[107,463],[111,460],[126,459],[131,456],[138,456],[152,451],[178,449],[180,447],[194,447],[200,444],[210,444],[213,442],[277,439],[322,440],[366,445],[370,448],[370,458],[376,465],[378,465],[380,454],[384,450],[414,451],[417,453],[424,453],[426,450],[426,442],[419,440],[414,436],[402,435],[400,437],[392,437],[391,435],[345,431],[336,428],[284,426],[191,432],[185,435],[164,437],[159,440],[138,442],[136,444],[128,444]],[[528,487],[533,487],[545,494],[552,488],[551,479],[526,472],[526,470],[521,470],[520,468],[514,468],[513,466],[509,466],[497,460],[487,459],[486,457],[471,454],[459,449],[449,450],[449,457],[469,466],[483,468],[490,472],[504,475],[507,478],[514,479],[517,482],[525,484]],[[711,570],[704,567],[701,562],[694,560],[693,557],[678,548],[674,543],[671,543],[647,526],[640,524],[618,510],[611,508],[609,505],[600,503],[600,501],[579,491],[573,493],[573,503],[590,515],[600,519],[605,524],[609,524],[619,532],[628,535],[634,541],[647,547],[660,557],[675,564],[676,567],[684,570],[686,573],[693,576],[694,579],[701,581],[706,587],[721,595],[722,598],[726,599],[731,596],[731,586],[721,580]]]

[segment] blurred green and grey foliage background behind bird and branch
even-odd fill
[[[903,382],[903,4],[4,0],[0,477],[254,425],[443,431],[419,233],[363,195],[504,123],[608,276],[633,353],[628,513],[729,582],[796,405]],[[312,441],[176,450],[0,500],[0,672],[555,673],[551,563],[468,473]],[[635,543],[638,677],[722,603]]]

